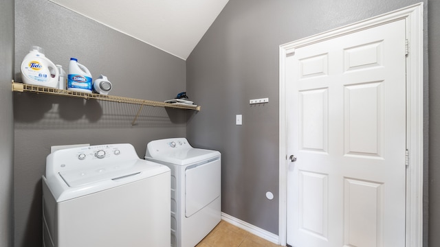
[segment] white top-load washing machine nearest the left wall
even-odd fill
[[[52,152],[43,176],[43,246],[170,246],[170,169],[131,144]]]

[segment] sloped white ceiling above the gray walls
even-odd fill
[[[50,0],[186,60],[229,0]]]

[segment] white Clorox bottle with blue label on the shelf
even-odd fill
[[[82,93],[91,93],[92,80],[90,71],[78,62],[76,58],[70,58],[69,74],[67,74],[67,90]]]

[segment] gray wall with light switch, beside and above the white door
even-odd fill
[[[187,136],[194,145],[223,154],[224,213],[278,234],[279,45],[417,2],[228,2],[186,61],[188,92],[203,106],[201,113],[190,117]],[[435,14],[439,13],[431,16]],[[249,104],[249,99],[261,97],[269,97],[269,103]],[[436,113],[439,115],[440,110]],[[243,115],[243,126],[235,125],[236,114]],[[438,149],[439,144],[435,147]],[[440,170],[431,176],[440,177]],[[274,200],[265,198],[266,191],[274,193]],[[431,213],[437,216],[432,222],[440,220],[438,211],[432,209]],[[440,246],[440,239],[434,238],[432,242],[436,244],[432,246]]]

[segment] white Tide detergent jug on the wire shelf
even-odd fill
[[[56,65],[46,58],[41,47],[33,46],[21,62],[21,79],[24,84],[56,88],[58,76]]]

